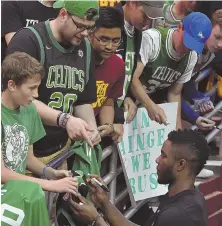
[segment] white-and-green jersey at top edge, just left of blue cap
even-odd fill
[[[155,27],[171,27],[176,26],[181,19],[177,19],[173,14],[173,7],[175,3],[166,3],[163,6],[163,16],[164,19],[157,19],[155,22]]]

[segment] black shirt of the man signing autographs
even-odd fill
[[[143,226],[207,226],[207,219],[204,196],[194,189],[162,196],[157,212]]]

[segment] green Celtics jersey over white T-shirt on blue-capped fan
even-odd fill
[[[143,32],[140,59],[145,69],[140,81],[147,94],[191,79],[197,62],[197,54],[190,51],[180,56],[173,48],[175,29],[158,28]]]

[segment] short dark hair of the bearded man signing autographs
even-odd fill
[[[209,147],[205,137],[197,131],[185,129],[170,132],[168,140],[177,147],[174,150],[175,158],[179,160],[186,156],[191,173],[198,175],[209,157]]]

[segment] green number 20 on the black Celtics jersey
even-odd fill
[[[63,112],[72,113],[73,104],[77,100],[76,94],[67,93],[65,96],[60,92],[55,92],[51,95],[48,106],[55,109],[63,108]]]

